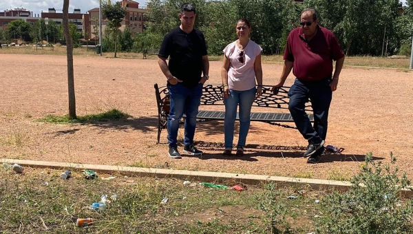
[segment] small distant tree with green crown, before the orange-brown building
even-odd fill
[[[123,19],[125,19],[126,9],[120,5],[117,1],[114,5],[110,0],[102,3],[102,12],[105,14],[109,23],[107,23],[107,30],[112,32],[112,38],[115,43],[115,58],[116,58],[116,44],[118,41],[119,28],[122,25]]]

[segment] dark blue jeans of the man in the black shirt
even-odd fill
[[[184,145],[193,145],[196,116],[198,115],[198,107],[202,96],[202,84],[200,83],[192,89],[184,87],[180,83],[170,85],[169,95],[171,97],[171,108],[167,123],[169,147],[177,147],[179,122],[183,114],[187,116],[184,125]]]

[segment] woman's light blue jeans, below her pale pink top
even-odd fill
[[[245,91],[229,90],[228,98],[224,98],[224,140],[225,148],[232,148],[234,139],[234,124],[237,117],[237,107],[240,105],[240,133],[237,147],[245,147],[246,135],[248,135],[251,123],[251,106],[255,99],[255,87]]]

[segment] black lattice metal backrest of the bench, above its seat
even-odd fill
[[[280,87],[275,94],[271,91],[272,87],[272,85],[262,86],[262,95],[259,98],[255,98],[253,107],[288,109],[288,90],[290,90],[290,87]],[[158,110],[164,109],[164,111],[168,113],[168,87],[158,87],[158,84],[155,84],[155,89]],[[224,97],[222,96],[223,89],[222,85],[204,85],[201,96],[201,105],[224,105]],[[311,106],[309,104],[306,105],[306,111],[310,110]]]

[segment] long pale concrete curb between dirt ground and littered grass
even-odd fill
[[[15,160],[0,158],[0,162],[8,162],[10,164],[20,164],[23,167],[34,168],[51,168],[51,169],[72,169],[74,171],[90,169],[98,173],[119,173],[120,175],[136,176],[136,177],[153,177],[153,178],[179,178],[182,180],[197,180],[202,182],[215,183],[234,183],[242,182],[244,184],[266,184],[268,182],[275,182],[277,186],[309,186],[315,190],[335,190],[346,191],[350,188],[350,182],[335,181],[335,180],[317,180],[306,178],[288,178],[281,176],[268,175],[249,175],[237,173],[220,173],[211,171],[184,171],[173,169],[156,169],[156,168],[142,168],[142,167],[121,167],[111,165],[99,164],[79,164],[69,162],[45,162],[34,160]],[[401,196],[403,198],[411,198],[413,192],[410,190],[403,190]]]

